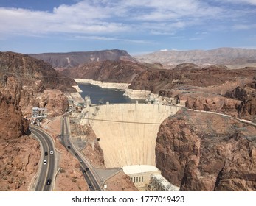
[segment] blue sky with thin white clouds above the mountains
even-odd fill
[[[0,0],[0,51],[256,49],[256,0]]]

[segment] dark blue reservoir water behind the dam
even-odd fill
[[[83,99],[85,96],[90,96],[92,104],[105,104],[105,102],[109,102],[110,104],[135,103],[138,100],[123,96],[125,93],[124,90],[100,88],[91,84],[79,84],[78,86],[83,91],[80,93]],[[138,100],[138,102],[144,103],[145,101]]]

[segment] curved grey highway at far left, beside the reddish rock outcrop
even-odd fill
[[[35,183],[35,191],[52,191],[56,166],[55,147],[52,138],[40,127],[30,125],[30,132],[41,143],[41,160],[39,161],[39,173]],[[53,153],[51,154],[50,151],[53,151]],[[45,160],[46,164],[44,163]],[[49,179],[51,182],[47,184]]]

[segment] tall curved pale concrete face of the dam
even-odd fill
[[[90,107],[90,122],[107,168],[155,166],[156,137],[162,121],[180,107],[160,104],[106,104]]]

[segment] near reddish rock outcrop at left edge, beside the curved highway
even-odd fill
[[[38,169],[39,144],[27,134],[19,102],[21,84],[15,77],[0,82],[0,190],[28,191]]]

